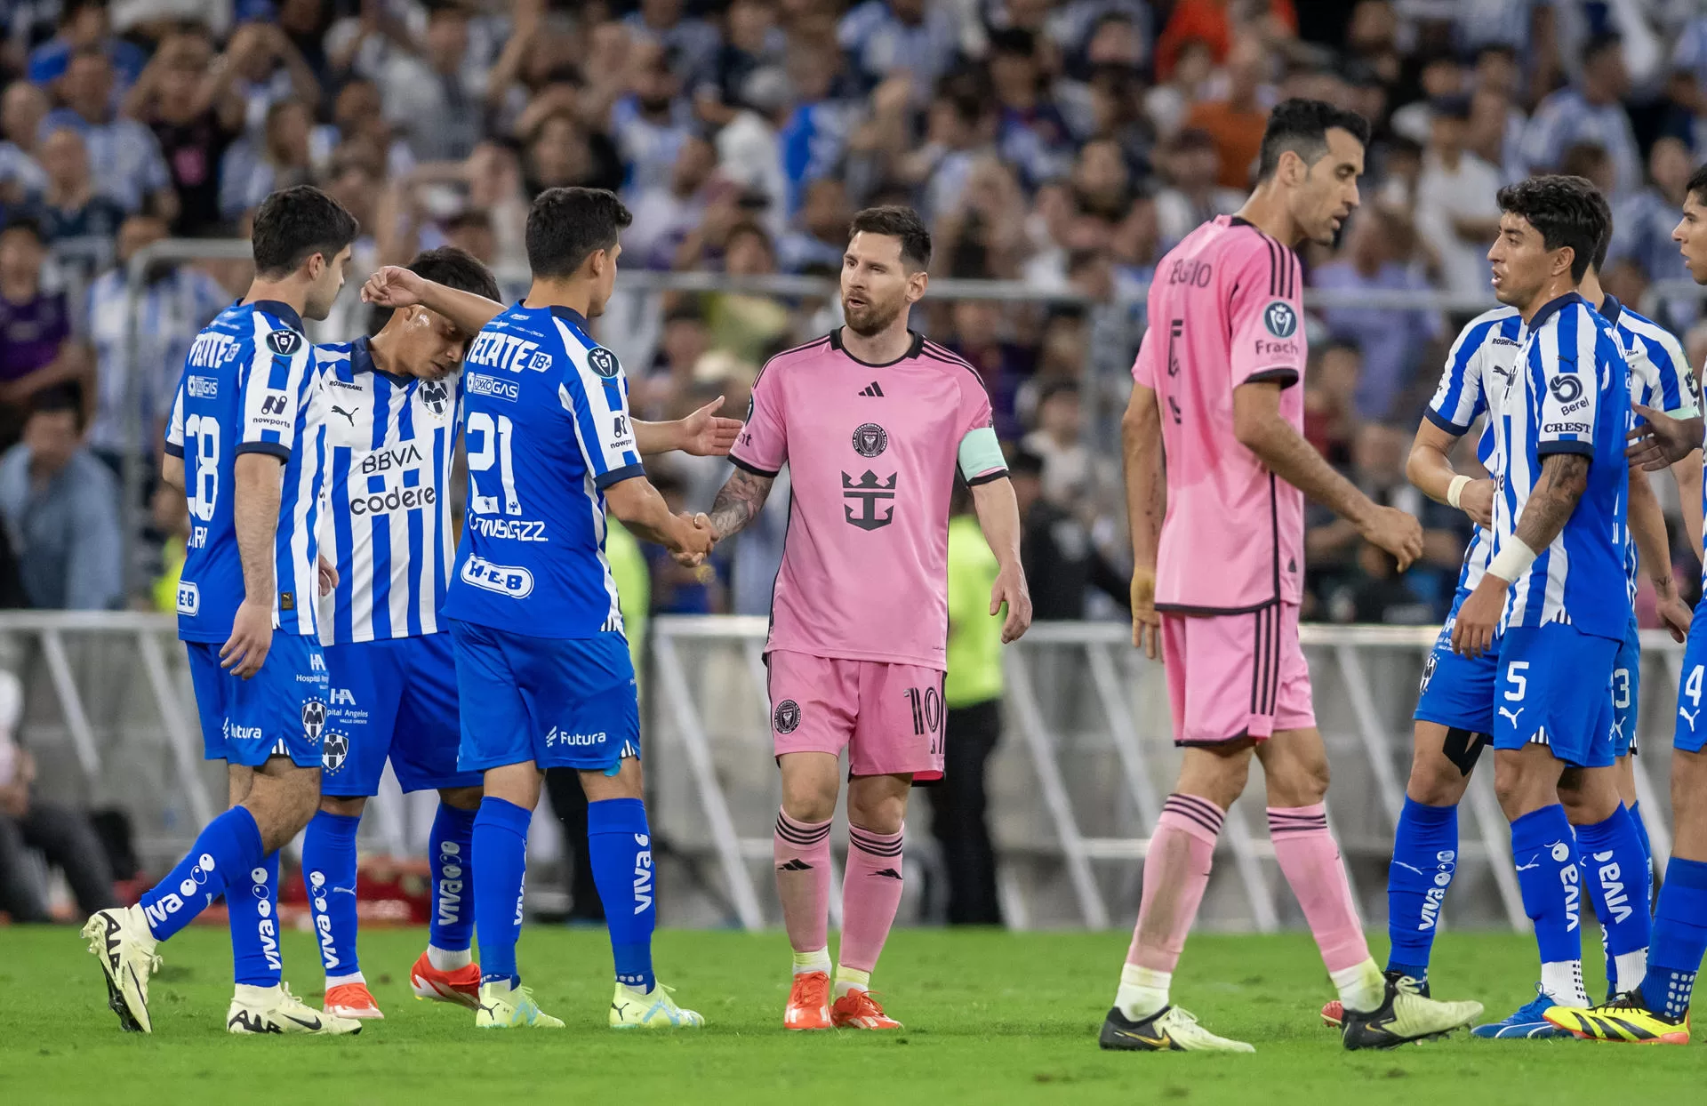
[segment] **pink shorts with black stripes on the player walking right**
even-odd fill
[[[1296,604],[1248,614],[1164,611],[1162,664],[1174,744],[1263,739],[1316,725]]]

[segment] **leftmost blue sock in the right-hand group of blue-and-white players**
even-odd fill
[[[1405,795],[1388,867],[1388,971],[1419,983],[1429,978],[1429,952],[1441,903],[1458,867],[1458,807],[1427,806]]]

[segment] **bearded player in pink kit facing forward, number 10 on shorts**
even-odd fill
[[[901,903],[913,780],[942,775],[947,524],[956,471],[1000,565],[1002,640],[1031,625],[1019,505],[978,374],[906,328],[930,234],[908,208],[854,217],[842,259],[847,326],[770,358],[717,493],[724,539],[753,521],[784,464],[789,533],[772,597],[772,737],[782,770],[777,894],[794,946],[787,1029],[900,1029],[871,971]],[[830,980],[830,819],[848,751],[842,961]],[[831,1002],[833,998],[833,1002]]]

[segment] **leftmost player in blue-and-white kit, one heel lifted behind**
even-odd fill
[[[278,848],[319,800],[326,664],[316,625],[324,449],[302,316],[324,319],[357,224],[314,188],[273,193],[254,217],[254,282],[195,340],[178,386],[162,478],[186,490],[189,548],[178,633],[208,760],[227,763],[230,809],[137,906],[84,927],[125,1029],[152,1031],[155,942],[224,891],[236,995],[230,1033],[355,1033],[280,983]]]

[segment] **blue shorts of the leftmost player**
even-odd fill
[[[297,768],[319,768],[328,684],[314,637],[273,630],[266,661],[249,679],[218,666],[218,642],[184,642],[184,649],[207,760],[254,768],[268,756],[288,756]]]

